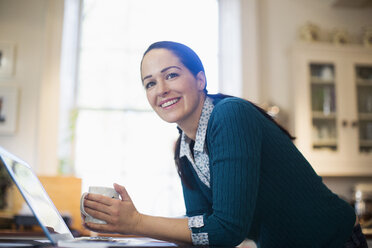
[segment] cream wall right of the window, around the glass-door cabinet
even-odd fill
[[[252,1],[252,0],[243,0]],[[277,104],[288,115],[287,127],[293,133],[291,68],[289,51],[298,41],[298,30],[307,22],[318,25],[321,39],[331,40],[335,28],[346,29],[352,42],[361,42],[362,27],[372,26],[372,8],[334,8],[325,0],[259,0],[257,27],[259,42],[259,102]],[[249,33],[248,33],[249,35]],[[247,39],[247,38],[246,38]],[[249,92],[245,92],[248,95]],[[296,135],[296,134],[294,134]],[[332,191],[351,200],[356,183],[368,177],[324,177]]]

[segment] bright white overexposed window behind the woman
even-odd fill
[[[140,60],[172,40],[201,57],[208,90],[218,85],[217,0],[85,0],[77,70],[75,173],[89,185],[124,185],[140,212],[185,213],[173,161],[175,124],[147,103]]]

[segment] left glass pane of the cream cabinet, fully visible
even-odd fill
[[[337,150],[335,66],[311,63],[309,69],[313,149]]]

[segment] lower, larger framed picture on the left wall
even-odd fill
[[[16,131],[18,112],[18,88],[0,85],[0,135]]]

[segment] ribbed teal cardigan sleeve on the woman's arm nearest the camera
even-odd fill
[[[255,212],[262,129],[258,111],[241,100],[215,106],[207,130],[212,212],[193,235],[207,234],[210,245],[238,245],[247,237]]]

